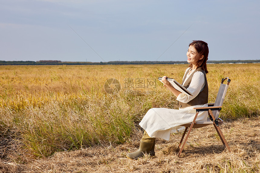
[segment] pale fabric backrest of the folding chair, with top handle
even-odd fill
[[[227,79],[227,84],[224,84],[223,82],[226,79]],[[222,106],[223,105],[223,102],[224,102],[224,99],[225,99],[226,92],[227,92],[227,89],[228,89],[230,81],[231,80],[228,77],[226,77],[225,79],[221,80],[220,87],[219,87],[219,92],[218,92],[216,101],[214,103],[214,106]],[[212,113],[213,113],[213,115],[215,116],[216,119],[219,118],[220,111],[212,111]]]

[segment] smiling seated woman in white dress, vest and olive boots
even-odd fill
[[[170,140],[170,134],[184,131],[185,127],[180,126],[193,121],[196,110],[194,107],[207,107],[208,103],[208,83],[206,74],[209,48],[206,42],[194,40],[189,45],[187,52],[187,62],[190,63],[186,69],[182,85],[189,90],[193,96],[187,96],[173,88],[162,77],[164,86],[177,97],[179,110],[167,108],[152,108],[145,114],[139,125],[144,129],[143,137],[139,149],[126,156],[130,159],[137,159],[145,153],[155,155],[155,138],[160,137]],[[207,112],[200,112],[196,121],[206,121]]]

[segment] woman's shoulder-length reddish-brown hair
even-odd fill
[[[202,70],[204,70],[206,73],[208,73],[207,70],[207,60],[208,60],[208,56],[209,56],[209,48],[208,48],[208,43],[203,42],[201,40],[193,40],[193,42],[191,42],[189,44],[189,46],[193,46],[198,54],[196,59],[197,61],[197,68],[202,68]],[[204,55],[204,57],[202,59],[201,56]],[[192,67],[192,64],[189,65],[189,67]]]

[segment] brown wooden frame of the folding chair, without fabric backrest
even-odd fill
[[[226,77],[225,79],[222,79],[222,80],[221,80],[221,83],[223,84],[224,80],[226,80],[226,79],[228,79],[227,85],[229,85],[230,79],[229,79],[228,77]],[[225,94],[226,94],[226,93],[225,93]],[[224,97],[225,97],[225,96],[224,96]],[[188,133],[187,133],[187,135],[186,135],[186,138],[185,138],[185,140],[184,140],[184,142],[183,142],[183,144],[182,144],[182,146],[181,146],[181,148],[180,148],[180,151],[179,151],[179,153],[178,153],[178,157],[180,157],[180,154],[181,154],[181,152],[182,152],[182,150],[183,150],[183,148],[184,148],[184,145],[185,145],[186,142],[187,142],[187,139],[188,139],[188,137],[189,137],[189,135],[190,135],[191,129],[192,129],[192,128],[205,127],[205,126],[210,125],[210,124],[213,124],[213,126],[215,127],[215,129],[216,129],[216,131],[217,131],[217,133],[218,133],[218,135],[219,135],[219,138],[220,138],[220,140],[222,141],[223,145],[226,146],[229,151],[231,151],[230,148],[229,148],[228,143],[226,142],[226,139],[225,139],[223,133],[221,132],[221,130],[220,130],[220,128],[219,128],[219,124],[223,124],[224,121],[223,121],[222,119],[218,118],[218,115],[217,115],[217,117],[215,117],[215,116],[213,115],[213,112],[212,112],[212,111],[220,111],[220,110],[222,109],[222,104],[223,104],[223,102],[222,102],[222,104],[219,105],[219,106],[214,106],[214,104],[215,104],[215,103],[209,103],[209,104],[208,104],[208,107],[193,108],[193,109],[196,109],[196,115],[195,115],[193,121],[192,121],[191,123],[181,125],[181,126],[184,126],[184,127],[186,127],[186,128],[185,128],[185,131],[184,131],[184,133],[183,133],[183,135],[182,135],[182,138],[181,138],[181,140],[180,140],[180,143],[179,143],[178,148],[181,146],[181,143],[182,143],[182,141],[183,141],[183,139],[184,139],[184,136],[185,136],[185,134],[186,134],[186,132],[187,132],[187,130],[188,130],[188,127],[190,127],[190,129],[189,129],[189,131],[188,131]],[[199,112],[201,112],[201,111],[207,111],[207,112],[208,112],[208,115],[209,115],[208,121],[205,121],[205,122],[196,122],[197,116],[198,116]]]

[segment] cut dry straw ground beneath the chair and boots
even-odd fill
[[[169,141],[157,139],[154,157],[126,158],[126,153],[138,149],[140,132],[121,145],[57,152],[24,164],[1,160],[0,172],[260,172],[259,120],[229,120],[220,126],[231,152],[210,125],[192,130],[180,158],[177,146],[182,133],[172,134]]]

